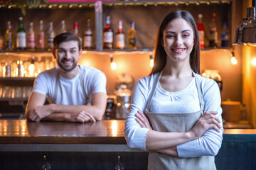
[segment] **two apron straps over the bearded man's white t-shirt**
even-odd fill
[[[79,79],[80,79],[80,85],[82,87],[82,93],[85,96],[85,104],[87,104],[88,103],[88,98],[87,98],[87,96],[85,94],[85,86],[84,86],[84,81],[82,79],[82,73],[81,73],[80,65],[78,66],[78,74],[79,74]],[[52,100],[53,103],[56,103],[56,101],[57,101],[57,94],[58,94],[58,87],[59,87],[59,85],[60,85],[60,72],[58,71],[57,72],[57,77],[56,77],[56,82],[55,82],[55,89],[54,89],[54,94],[53,94],[53,100]]]

